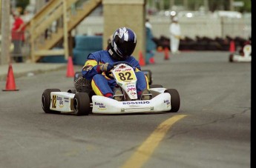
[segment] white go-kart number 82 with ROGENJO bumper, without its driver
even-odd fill
[[[74,81],[74,90],[45,90],[42,93],[42,109],[46,113],[65,112],[74,115],[177,112],[180,109],[180,95],[177,90],[166,89],[160,84],[150,85],[151,99],[140,100],[136,89],[137,78],[131,64],[117,62],[111,73],[106,75],[116,80],[122,90],[123,101],[95,95],[91,89],[91,81],[79,76]]]

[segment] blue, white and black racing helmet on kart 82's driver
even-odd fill
[[[116,61],[124,61],[134,53],[136,44],[137,36],[134,31],[127,27],[121,27],[111,36],[108,53]]]

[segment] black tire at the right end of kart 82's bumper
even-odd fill
[[[171,110],[170,112],[177,112],[180,110],[180,94],[175,89],[165,90],[165,93],[171,95]]]

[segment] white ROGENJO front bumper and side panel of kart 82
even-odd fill
[[[148,101],[116,101],[101,95],[92,96],[92,112],[102,114],[121,114],[133,112],[164,112],[171,110],[171,95],[164,93],[163,87],[151,91],[160,93]],[[73,113],[73,97],[75,94],[66,92],[50,93],[50,110]]]

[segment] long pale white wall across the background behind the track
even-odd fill
[[[151,16],[152,31],[155,37],[169,36],[168,27],[171,21],[168,17]],[[82,21],[76,27],[76,34],[103,33],[102,16],[90,16]],[[183,36],[195,38],[195,36],[207,36],[209,38],[216,37],[236,37],[249,38],[252,36],[251,18],[246,19],[229,19],[229,18],[180,18],[180,27]]]

